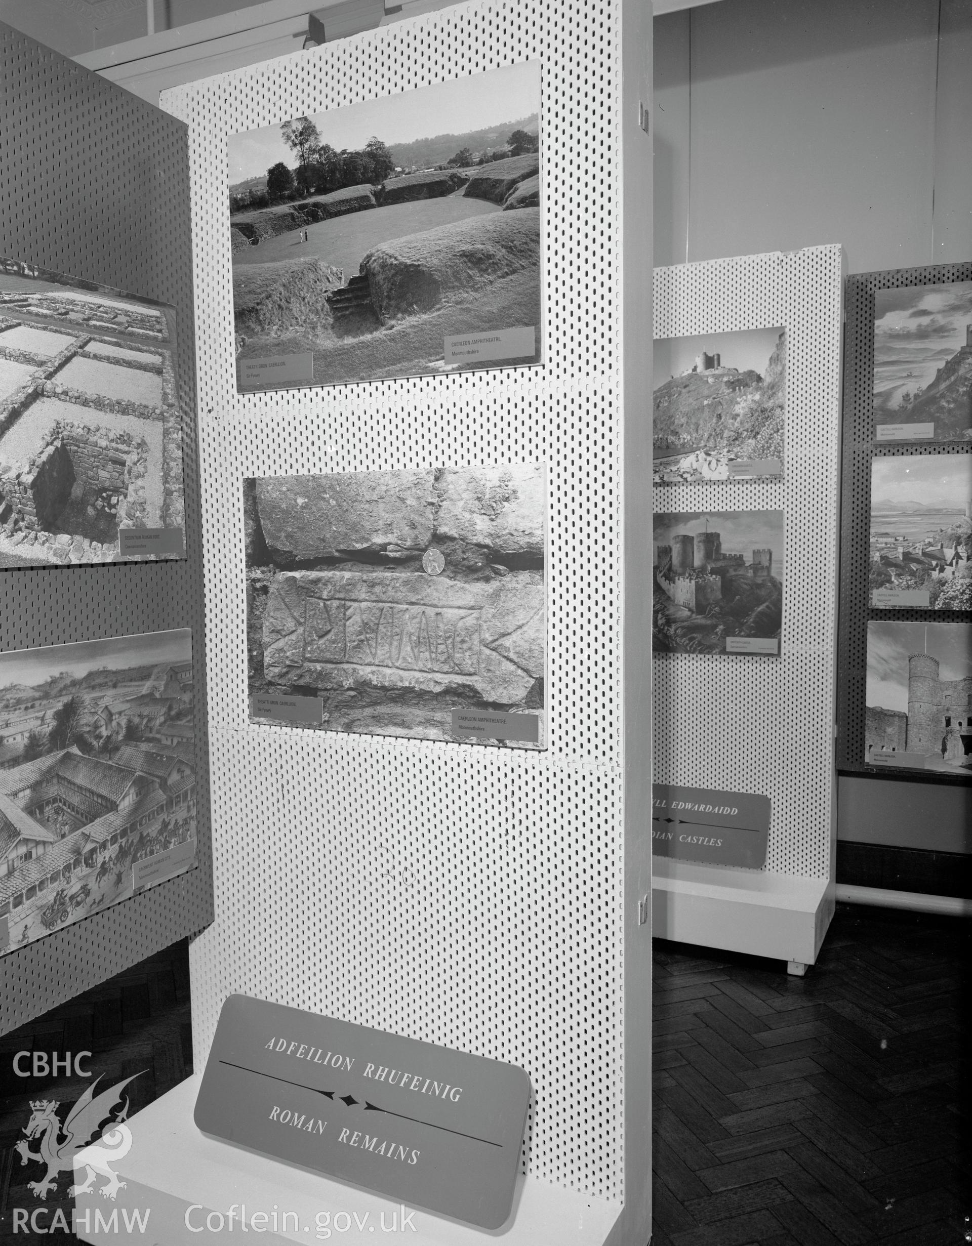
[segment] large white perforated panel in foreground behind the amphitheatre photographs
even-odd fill
[[[189,126],[217,921],[197,1060],[232,991],[510,1059],[525,1164],[619,1199],[621,0],[460,5],[178,87]],[[238,395],[227,136],[542,64],[546,363]],[[247,721],[242,481],[545,462],[548,750]]]

